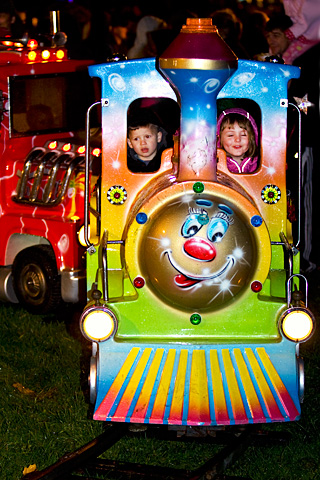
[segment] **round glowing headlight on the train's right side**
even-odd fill
[[[281,318],[283,334],[293,342],[305,342],[314,331],[314,318],[311,312],[303,308],[287,310]]]

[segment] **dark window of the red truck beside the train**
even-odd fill
[[[11,137],[84,131],[95,88],[87,70],[10,77]],[[98,115],[92,122],[99,127]]]

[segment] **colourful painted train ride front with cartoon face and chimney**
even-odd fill
[[[89,73],[102,84],[103,151],[100,180],[86,190],[81,317],[93,418],[297,420],[299,344],[314,329],[295,291],[305,279],[287,219],[287,86],[299,69],[238,60],[211,19],[187,19],[158,60]],[[127,118],[137,106],[162,115],[174,140],[155,172],[128,168]],[[231,173],[216,148],[217,118],[230,106],[255,117],[252,173]]]

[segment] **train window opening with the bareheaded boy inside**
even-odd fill
[[[180,109],[170,98],[139,98],[127,115],[127,165],[134,173],[152,173],[161,166],[161,154],[173,147]]]

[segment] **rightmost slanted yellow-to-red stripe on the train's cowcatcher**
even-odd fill
[[[261,347],[257,348],[257,352],[266,371],[268,372],[269,378],[280,398],[281,404],[285,412],[287,413],[290,420],[295,420],[300,415],[300,413],[297,410],[284,383],[282,382],[277,370],[274,368],[269,356],[267,355],[267,352],[264,348]]]

